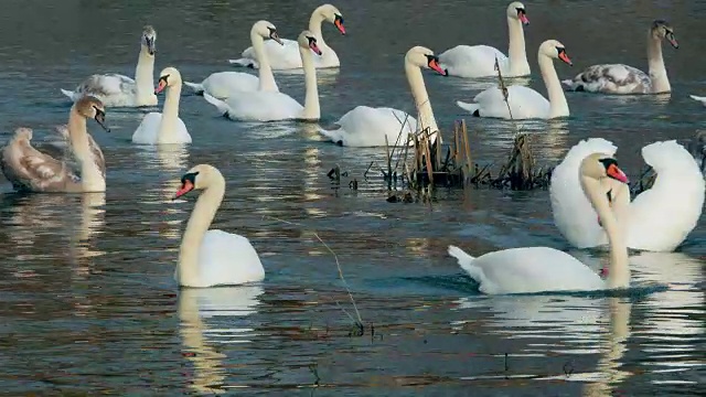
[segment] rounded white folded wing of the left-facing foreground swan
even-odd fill
[[[265,269],[250,242],[240,235],[212,229],[199,249],[200,277],[206,286],[228,286],[265,279]]]

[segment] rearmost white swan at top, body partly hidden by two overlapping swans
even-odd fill
[[[321,34],[321,23],[323,23],[323,21],[333,23],[341,34],[345,34],[343,14],[341,14],[339,9],[331,4],[323,4],[313,10],[309,19],[309,31],[319,40],[318,44],[322,51],[322,54],[319,54],[320,56],[313,58],[313,65],[314,67],[339,67],[341,64],[339,56],[335,54],[335,51],[323,41],[323,34]],[[298,53],[297,41],[282,39],[282,42],[285,43],[284,46],[277,45],[272,41],[265,42],[265,52],[267,53],[267,60],[270,62],[271,67],[275,71],[303,67]],[[239,60],[229,60],[228,62],[239,66],[260,67],[258,65],[259,57],[254,46],[247,47],[240,56]]]

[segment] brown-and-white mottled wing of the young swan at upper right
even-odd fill
[[[573,79],[561,82],[570,90],[602,94],[649,94],[650,76],[639,68],[623,64],[588,66]]]

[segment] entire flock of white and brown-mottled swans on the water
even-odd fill
[[[33,141],[33,130],[19,127],[1,148],[0,169],[19,192],[105,192],[106,157],[88,127],[97,125],[110,132],[107,109],[118,107],[129,111],[152,107],[150,110],[158,110],[154,107],[161,97],[161,111],[141,114],[131,143],[197,144],[199,126],[180,117],[183,85],[189,93],[203,97],[197,100],[208,104],[214,115],[227,118],[220,122],[259,122],[263,128],[270,121],[315,124],[314,133],[321,140],[345,148],[402,146],[410,136],[426,129],[431,132],[429,139],[436,141],[439,127],[425,83],[425,78],[434,75],[510,78],[505,90],[491,87],[475,93],[470,100],[456,101],[463,112],[491,119],[568,118],[573,95],[644,96],[672,92],[662,47],[666,43],[675,50],[678,44],[674,28],[664,20],[654,20],[646,29],[648,72],[606,63],[587,66],[575,77],[561,79],[559,74],[567,73],[575,60],[561,42],[548,39],[533,53],[536,57],[532,56],[545,90],[539,93],[520,81],[513,82],[512,78],[532,76],[533,72],[524,32],[531,29],[530,11],[518,1],[504,9],[509,34],[506,55],[486,44],[460,43],[439,54],[414,45],[404,53],[404,60],[399,56],[415,105],[414,115],[375,104],[354,105],[342,116],[324,115],[328,109],[321,106],[317,74],[323,73],[323,68],[345,71],[346,61],[346,54],[341,51],[340,58],[323,36],[324,29],[331,25],[346,35],[343,13],[332,4],[315,8],[307,29],[299,31],[293,40],[281,37],[278,26],[267,20],[255,21],[249,26],[250,46],[242,51],[239,57],[228,61],[238,72],[215,71],[190,81],[183,79],[173,66],[163,67],[154,75],[157,31],[146,25],[140,34],[133,76],[97,73],[73,90],[61,89],[69,99],[71,108],[67,124],[56,127],[60,143]],[[288,69],[302,71],[303,101],[288,94],[287,87],[280,90],[277,84],[275,72]],[[706,97],[691,97],[706,106]],[[331,125],[318,126],[324,116],[338,119]],[[702,169],[688,150],[675,140],[656,141],[641,148],[644,162],[656,173],[654,184],[631,197],[629,179],[619,167],[617,153],[612,142],[599,137],[579,141],[555,168],[548,192],[554,224],[568,245],[579,249],[602,246],[609,250],[610,264],[602,273],[552,247],[500,249],[472,256],[450,245],[448,255],[456,258],[460,268],[478,282],[480,291],[488,294],[629,288],[629,249],[677,249],[702,217],[706,186]],[[107,162],[109,165],[110,159]],[[226,196],[226,176],[207,163],[192,167],[183,173],[174,200],[183,202],[195,192],[200,194],[179,246],[176,283],[206,288],[263,281],[264,266],[247,237],[210,229]]]

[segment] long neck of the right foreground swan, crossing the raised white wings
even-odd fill
[[[610,270],[606,280],[609,288],[628,288],[630,286],[630,267],[628,261],[628,246],[625,239],[610,208],[608,197],[601,189],[600,182],[592,178],[580,176],[584,193],[600,216],[608,243],[610,244]]]

